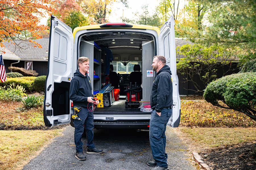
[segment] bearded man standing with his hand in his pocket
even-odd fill
[[[148,161],[148,165],[154,166],[151,170],[168,170],[165,131],[172,116],[172,72],[164,56],[154,56],[152,67],[157,72],[150,96],[152,113],[149,123],[149,141],[154,160]]]

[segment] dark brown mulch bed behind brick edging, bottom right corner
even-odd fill
[[[256,143],[227,146],[199,155],[212,170],[256,169]]]

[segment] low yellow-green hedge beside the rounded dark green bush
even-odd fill
[[[15,77],[7,78],[5,82],[0,82],[0,86],[9,86],[10,84],[20,85],[25,88],[26,92],[34,91],[34,79],[36,77]]]

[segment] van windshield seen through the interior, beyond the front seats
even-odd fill
[[[119,74],[130,74],[133,72],[133,67],[135,64],[139,64],[141,67],[142,61],[130,61],[126,66],[121,63],[121,61],[112,61],[112,65],[116,73]]]

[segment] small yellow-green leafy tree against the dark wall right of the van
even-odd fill
[[[185,44],[181,47],[178,46],[176,52],[184,56],[178,60],[177,72],[183,75],[185,82],[192,82],[196,89],[194,91],[199,94],[202,94],[204,87],[217,78],[217,73],[220,73],[220,70],[223,75],[234,71],[232,61],[235,57],[232,50],[225,50],[220,46],[206,47],[200,44]],[[197,78],[201,80],[203,86],[197,83]]]

